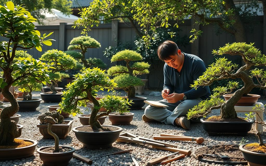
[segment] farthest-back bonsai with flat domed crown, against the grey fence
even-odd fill
[[[80,50],[82,56],[74,52],[67,52],[67,53],[74,58],[79,58],[85,67],[99,67],[99,68],[106,67],[106,64],[103,63],[103,61],[99,58],[85,59],[85,53],[87,52],[88,48],[101,47],[101,44],[97,40],[93,39],[90,36],[78,36],[74,37],[69,44],[70,46],[68,46],[68,50]]]

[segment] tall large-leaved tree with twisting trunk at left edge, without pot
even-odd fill
[[[36,19],[22,5],[15,6],[9,1],[6,6],[0,6],[0,10],[0,34],[7,38],[7,41],[2,41],[0,44],[0,67],[3,70],[3,75],[0,76],[0,91],[11,104],[0,114],[0,145],[7,146],[21,135],[16,123],[10,120],[10,117],[18,111],[18,103],[9,88],[24,78],[45,83],[48,78],[44,71],[50,69],[45,63],[33,58],[19,58],[19,61],[15,62],[16,49],[36,48],[41,51],[42,44],[52,44],[52,39],[45,39],[52,32],[48,35],[43,34],[42,37],[40,32],[35,30],[33,22]]]

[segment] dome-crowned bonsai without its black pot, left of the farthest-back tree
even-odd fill
[[[70,55],[67,55],[63,51],[59,51],[57,49],[48,50],[41,56],[40,59],[49,61],[51,62],[51,65],[55,66],[54,69],[52,69],[52,71],[49,73],[49,77],[51,79],[50,89],[52,93],[55,94],[57,93],[55,89],[57,82],[61,81],[63,78],[69,77],[68,74],[60,73],[59,71],[75,68],[77,61]]]

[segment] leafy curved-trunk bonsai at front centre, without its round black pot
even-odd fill
[[[67,85],[67,91],[63,92],[63,100],[59,103],[60,109],[58,111],[68,112],[73,116],[78,113],[82,114],[80,108],[77,108],[77,106],[86,107],[86,104],[90,101],[94,104],[94,107],[92,108],[89,124],[94,131],[104,129],[97,120],[99,117],[106,116],[116,109],[126,109],[128,107],[128,100],[124,100],[115,95],[107,95],[100,100],[95,99],[97,91],[103,89],[110,91],[117,87],[114,80],[111,80],[107,76],[105,70],[99,68],[83,68],[81,73],[74,75],[74,78],[75,80]],[[101,107],[104,107],[106,112],[98,114]]]

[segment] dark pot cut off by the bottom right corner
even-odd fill
[[[247,143],[247,144],[250,144],[250,143]],[[252,151],[244,149],[243,147],[246,146],[247,144],[240,145],[239,149],[241,150],[244,159],[248,161],[248,165],[265,166],[266,165],[266,154],[252,152]]]

